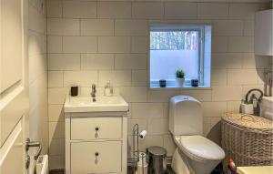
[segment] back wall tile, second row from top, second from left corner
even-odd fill
[[[114,36],[114,20],[82,19],[81,36]]]

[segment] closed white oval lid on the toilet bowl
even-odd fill
[[[199,159],[217,160],[225,158],[225,152],[222,148],[202,136],[181,136],[179,141],[181,148]]]

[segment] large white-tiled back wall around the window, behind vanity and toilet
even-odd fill
[[[50,168],[64,168],[64,113],[71,85],[89,95],[95,83],[102,94],[107,80],[130,103],[128,132],[138,123],[147,129],[141,149],[158,145],[171,155],[168,99],[197,97],[204,109],[204,134],[219,142],[219,120],[238,111],[249,88],[262,87],[262,69],[270,57],[255,57],[254,12],[268,4],[217,4],[130,1],[48,1],[48,112]],[[204,90],[149,90],[148,25],[152,22],[211,24],[212,87]],[[128,137],[129,140],[131,136]]]

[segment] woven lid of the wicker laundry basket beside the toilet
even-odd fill
[[[238,127],[273,130],[273,122],[271,120],[258,116],[241,113],[226,113],[222,119]]]

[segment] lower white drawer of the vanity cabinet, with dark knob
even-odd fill
[[[120,173],[121,141],[71,143],[71,174]]]

